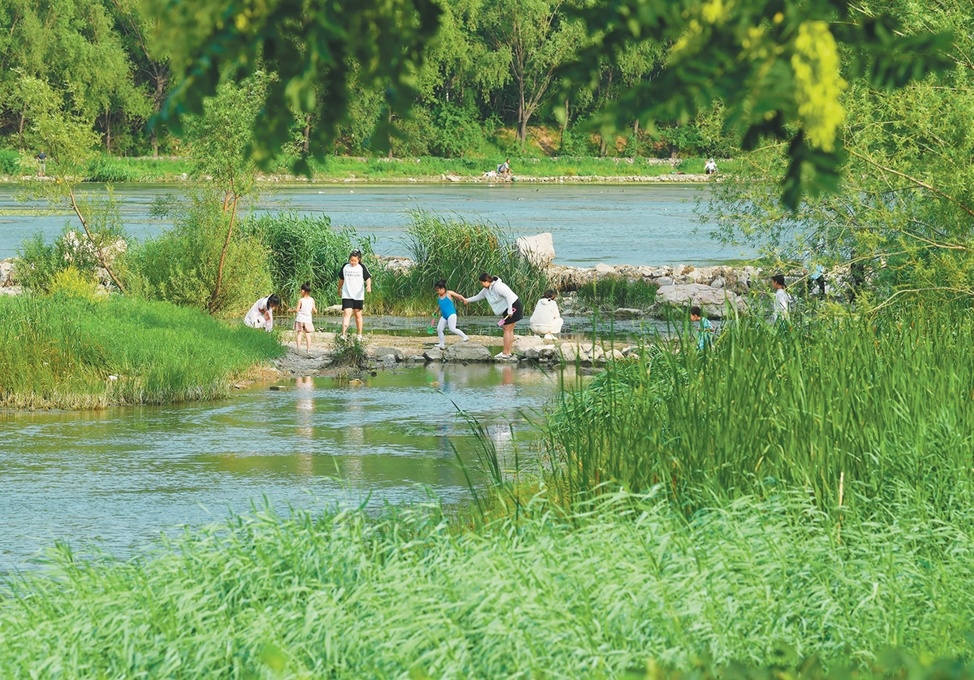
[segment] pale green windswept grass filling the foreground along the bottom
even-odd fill
[[[435,508],[270,511],[94,564],[62,546],[0,594],[7,677],[645,677],[736,659],[969,655],[974,516],[842,540],[801,493],[692,521],[613,495],[457,532]],[[782,654],[784,651],[784,655]],[[764,677],[764,676],[759,676]],[[773,677],[789,677],[773,676]],[[913,676],[911,676],[913,677]]]

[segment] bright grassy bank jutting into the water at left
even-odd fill
[[[0,297],[0,405],[102,408],[223,396],[281,353],[197,310],[112,296]]]

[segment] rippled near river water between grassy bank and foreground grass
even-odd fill
[[[428,491],[463,500],[453,447],[479,467],[457,409],[487,425],[502,453],[517,441],[530,457],[525,416],[544,408],[558,380],[510,365],[430,364],[379,371],[357,387],[303,378],[222,402],[0,413],[0,572],[31,568],[59,540],[125,557],[263,499],[280,512],[380,508]]]

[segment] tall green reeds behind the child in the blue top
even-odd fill
[[[438,279],[469,297],[480,292],[477,277],[487,272],[499,276],[525,305],[537,301],[548,286],[544,270],[517,249],[513,236],[492,224],[416,212],[406,233],[413,267],[383,271],[375,288],[372,304],[386,313],[429,314],[436,307],[433,283]],[[486,305],[481,309],[493,313]]]

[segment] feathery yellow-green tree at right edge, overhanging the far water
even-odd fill
[[[861,271],[876,304],[919,291],[974,295],[974,19],[965,4],[948,0],[927,11],[884,3],[908,31],[951,29],[957,39],[946,54],[954,68],[897,92],[850,87],[838,130],[848,154],[842,189],[795,212],[783,210],[759,179],[780,170],[784,150],[748,155],[745,170],[719,185],[710,206],[720,237],[758,245],[792,266]]]

